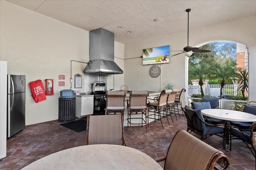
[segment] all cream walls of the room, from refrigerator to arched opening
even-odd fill
[[[256,101],[256,17],[214,24],[190,30],[190,46],[214,39],[240,41],[249,52],[249,100]],[[71,60],[89,61],[89,32],[43,16],[31,10],[0,1],[0,59],[8,61],[8,74],[26,75],[26,125],[58,119],[60,90],[70,89]],[[151,65],[142,66],[142,49],[170,45],[170,50],[186,46],[186,31],[155,39],[123,45],[115,42],[114,61],[124,74],[114,75],[115,90],[126,84],[129,90],[160,91],[170,81],[174,88],[186,85],[186,57],[177,55],[169,64],[161,66],[162,74],[151,78]],[[174,53],[170,53],[173,55]],[[130,59],[138,57],[136,59]],[[125,59],[123,62],[123,58]],[[72,78],[84,74],[86,64],[72,62]],[[58,75],[65,75],[65,86],[58,86]],[[107,88],[113,88],[113,75]],[[40,79],[54,79],[54,95],[35,103],[28,83]],[[74,81],[72,83],[73,90]],[[82,87],[84,85],[82,84]],[[81,92],[84,89],[78,89]],[[182,102],[185,98],[182,96]]]

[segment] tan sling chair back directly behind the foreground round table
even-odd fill
[[[124,145],[124,120],[118,115],[90,115],[87,117],[85,145]]]

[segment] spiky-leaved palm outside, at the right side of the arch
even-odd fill
[[[238,72],[236,72],[236,77],[237,77],[237,84],[238,88],[237,90],[241,90],[243,98],[245,100],[244,93],[248,93],[248,72],[247,72],[247,67],[243,68],[238,68]]]

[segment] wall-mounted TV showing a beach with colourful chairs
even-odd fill
[[[142,64],[164,64],[169,63],[170,45],[154,47],[143,50]]]

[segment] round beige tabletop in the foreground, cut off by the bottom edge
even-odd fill
[[[22,170],[162,170],[150,156],[122,145],[85,145],[55,152]]]

